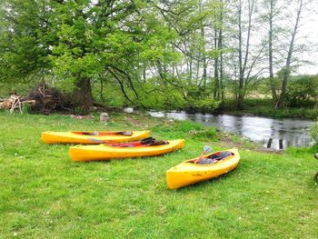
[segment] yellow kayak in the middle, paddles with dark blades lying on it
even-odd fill
[[[73,161],[110,160],[113,158],[132,158],[166,154],[184,147],[184,139],[169,140],[168,144],[141,145],[119,147],[106,144],[75,145],[70,147],[70,156]]]

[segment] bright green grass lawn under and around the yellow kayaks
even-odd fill
[[[66,115],[0,113],[1,238],[317,238],[318,161],[313,149],[262,154],[217,179],[168,190],[165,171],[226,144],[214,130],[144,115],[111,115],[108,125]],[[185,138],[183,150],[150,158],[74,163],[69,145],[41,143],[45,130],[150,129]],[[209,138],[212,137],[212,138]],[[211,140],[210,140],[211,139]]]

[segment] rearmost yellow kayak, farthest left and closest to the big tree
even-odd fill
[[[42,132],[42,141],[45,144],[101,144],[99,141],[128,142],[148,137],[149,131],[119,131],[119,132],[94,132],[94,131],[69,131],[69,132]],[[95,141],[92,139],[96,139]]]

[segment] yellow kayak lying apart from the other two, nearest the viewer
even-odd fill
[[[226,153],[223,159],[214,160],[218,154]],[[204,155],[202,160],[198,158],[184,161],[166,172],[167,186],[170,189],[180,188],[189,184],[196,184],[202,181],[209,180],[222,174],[226,174],[237,166],[240,162],[240,154],[237,148],[228,149],[225,151],[215,152],[213,154]],[[211,162],[212,161],[212,162]],[[203,162],[205,164],[201,164]],[[211,163],[211,164],[210,164]]]

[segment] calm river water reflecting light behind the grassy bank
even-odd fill
[[[287,146],[306,146],[313,144],[309,128],[313,120],[300,120],[292,118],[268,118],[259,116],[234,116],[187,114],[181,112],[149,112],[154,117],[168,117],[176,120],[192,120],[208,126],[238,133],[264,147],[285,149]]]

